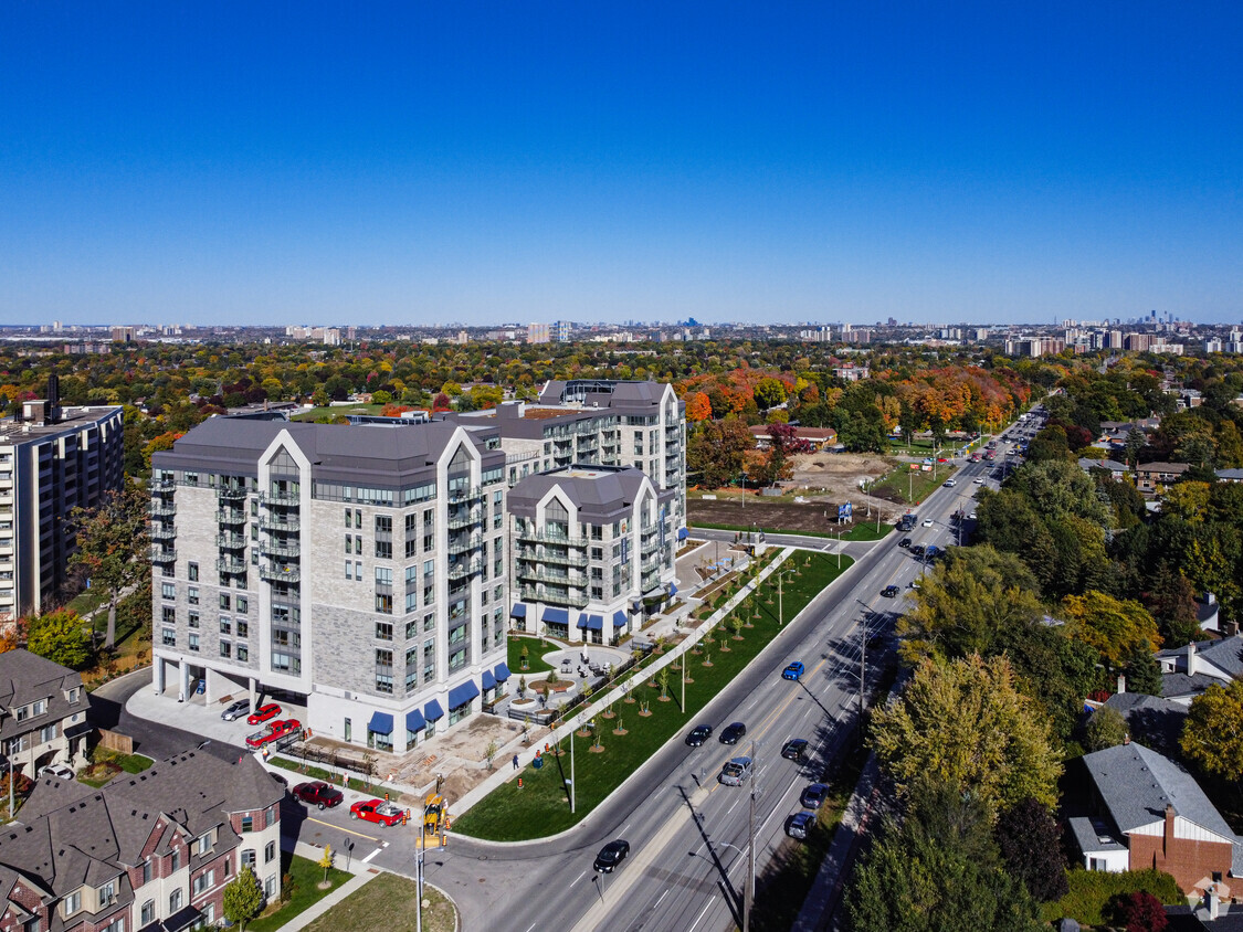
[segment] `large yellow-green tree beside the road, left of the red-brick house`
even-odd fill
[[[871,743],[904,793],[936,774],[998,808],[1057,800],[1048,717],[1018,691],[1004,656],[924,660],[902,696],[874,713]]]

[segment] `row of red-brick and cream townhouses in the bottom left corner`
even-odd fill
[[[188,752],[103,789],[46,777],[0,833],[0,932],[181,932],[224,920],[251,865],[281,885],[285,788],[251,756]]]

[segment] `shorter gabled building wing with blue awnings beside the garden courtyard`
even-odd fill
[[[677,594],[676,491],[626,466],[567,466],[508,496],[518,630],[615,644]]]

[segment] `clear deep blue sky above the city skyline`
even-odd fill
[[[1243,319],[1238,2],[0,4],[0,323]]]

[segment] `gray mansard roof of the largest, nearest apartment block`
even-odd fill
[[[152,465],[162,470],[256,476],[260,454],[281,431],[288,431],[311,460],[314,478],[392,486],[434,467],[456,430],[456,424],[446,421],[347,426],[210,418],[178,440],[173,450],[155,454]],[[500,450],[481,452],[485,461],[495,459],[492,465],[503,464]]]

